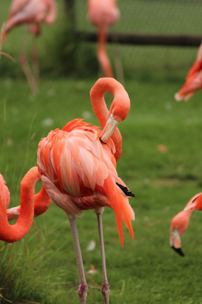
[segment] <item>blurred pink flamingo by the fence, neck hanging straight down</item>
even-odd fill
[[[114,24],[120,16],[116,0],[88,0],[88,18],[98,27],[97,58],[105,77],[114,78],[112,65],[107,55],[107,27]]]

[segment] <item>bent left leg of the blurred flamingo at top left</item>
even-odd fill
[[[38,92],[38,87],[36,84],[36,81],[34,79],[34,76],[32,74],[31,68],[28,64],[27,58],[26,58],[26,50],[27,50],[27,44],[28,44],[28,31],[26,31],[24,36],[24,41],[21,49],[21,53],[19,56],[19,61],[22,66],[22,69],[24,71],[25,77],[27,79],[28,85],[30,87],[30,90],[33,94],[36,94]]]

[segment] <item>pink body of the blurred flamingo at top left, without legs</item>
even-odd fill
[[[35,34],[40,33],[40,24],[51,24],[57,17],[55,0],[14,0],[4,28],[4,38],[17,25],[27,23]]]

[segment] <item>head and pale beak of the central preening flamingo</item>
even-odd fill
[[[120,85],[120,84],[119,84]],[[121,86],[122,87],[122,86]],[[100,141],[107,143],[116,127],[126,118],[130,109],[130,99],[128,93],[122,87],[115,94],[115,98],[110,107],[110,117],[100,134]]]

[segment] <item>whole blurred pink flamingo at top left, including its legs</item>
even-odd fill
[[[25,36],[21,55],[19,57],[23,71],[27,78],[32,93],[38,92],[38,57],[36,37],[40,34],[40,26],[42,22],[52,24],[57,17],[57,5],[55,0],[13,0],[10,8],[8,20],[4,28],[5,40],[9,31],[22,23],[28,25],[28,31],[34,35],[32,46],[32,70],[26,59],[27,37]]]

